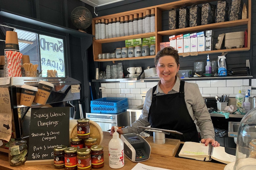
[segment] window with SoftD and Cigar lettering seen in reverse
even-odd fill
[[[16,29],[20,53],[29,55],[32,64],[38,64],[42,77],[47,77],[48,70],[57,71],[58,77],[65,77],[64,40]]]

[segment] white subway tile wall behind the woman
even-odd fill
[[[241,86],[249,85],[249,79],[238,80],[186,80],[186,82],[197,83],[203,97],[215,97],[216,95],[229,95],[236,97]],[[129,82],[129,83],[101,83],[105,87],[102,97],[125,97],[128,98],[129,108],[142,104],[142,96],[147,91],[157,85],[157,82]],[[256,79],[252,79],[252,88],[256,88]],[[256,95],[256,90],[251,91],[252,98]]]

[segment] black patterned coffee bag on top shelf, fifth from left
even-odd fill
[[[225,0],[219,0],[215,10],[215,23],[225,21],[228,21],[228,4]]]

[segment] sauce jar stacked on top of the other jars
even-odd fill
[[[90,137],[90,123],[89,119],[77,120],[77,137],[79,139],[87,139]]]

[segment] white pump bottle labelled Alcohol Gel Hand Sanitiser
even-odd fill
[[[115,126],[113,138],[108,143],[109,167],[113,169],[122,168],[124,166],[124,143],[119,138],[117,129],[118,127]]]

